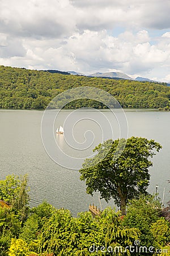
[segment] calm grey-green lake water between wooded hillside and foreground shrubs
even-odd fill
[[[0,179],[5,179],[5,176],[9,174],[28,174],[31,187],[31,206],[40,204],[42,200],[47,200],[57,208],[64,207],[71,210],[74,215],[80,211],[88,210],[90,203],[100,207],[99,193],[95,193],[94,197],[86,194],[86,185],[79,180],[79,172],[58,165],[46,153],[41,141],[43,113],[37,110],[0,110]],[[71,113],[71,110],[63,110],[58,116],[57,123],[54,123],[54,129],[63,125]],[[111,113],[108,110],[103,110],[102,113],[112,123]],[[170,185],[167,182],[170,179],[170,113],[125,110],[125,114],[128,120],[129,137],[134,135],[155,139],[163,146],[162,150],[152,159],[154,166],[150,168],[151,181],[148,191],[154,193],[155,184],[158,184],[159,196],[162,198],[165,188],[164,201],[166,203],[170,199]],[[55,139],[61,149],[72,158],[75,158],[75,155],[84,158],[91,154],[92,148],[103,139],[102,130],[107,129],[105,120],[102,117],[100,120],[100,116],[101,113],[92,110],[74,112],[74,115],[71,116],[72,120],[83,119],[75,126],[76,141],[80,144],[86,144],[86,139],[87,142],[90,139],[93,143],[85,145],[87,150],[76,150],[74,152],[76,143],[73,147],[70,147],[65,144],[63,137],[56,137]],[[97,121],[93,122],[92,120],[96,120],[96,118]],[[67,122],[69,122],[68,120]],[[99,123],[101,127],[98,125]],[[87,137],[84,138],[84,133],[87,130],[92,130],[94,134],[87,133]],[[95,135],[94,141],[93,135]],[[109,136],[108,132],[104,139],[109,138]],[[117,137],[118,133],[115,129],[114,138]],[[70,141],[70,143],[72,142]],[[60,160],[61,162],[63,160],[63,163],[65,162],[65,159]],[[67,164],[71,166],[71,163]],[[108,205],[113,206],[113,201],[106,204],[104,200],[101,200],[101,204],[105,208]]]

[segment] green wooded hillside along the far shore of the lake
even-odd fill
[[[154,82],[102,79],[62,75],[24,68],[0,66],[0,108],[44,109],[57,94],[77,86],[95,86],[111,93],[123,108],[165,108],[169,106],[170,88]],[[91,106],[99,102],[76,101],[69,108]]]

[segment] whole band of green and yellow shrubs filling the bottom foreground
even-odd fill
[[[152,141],[152,146],[154,143]],[[15,208],[0,208],[1,256],[144,256],[146,254],[131,253],[125,248],[134,246],[134,241],[139,240],[142,246],[163,249],[170,241],[170,224],[160,217],[162,209],[159,201],[149,195],[129,201],[124,217],[111,208],[95,218],[90,212],[73,217],[69,210],[55,209],[43,202],[29,209],[26,218],[21,221],[20,204],[24,203],[19,195],[24,197],[26,194],[21,192],[22,185],[16,189],[16,184],[23,182],[24,186],[27,183],[24,183],[25,179],[13,178],[7,177],[5,183],[1,183],[1,193],[5,198],[10,196],[8,198],[12,202],[17,199]],[[4,184],[9,187],[5,189]],[[11,191],[11,184],[14,184],[16,195]],[[121,250],[118,251],[118,248]]]

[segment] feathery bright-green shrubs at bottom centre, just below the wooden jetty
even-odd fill
[[[99,218],[91,213],[71,217],[68,210],[57,210],[42,228],[40,252],[54,255],[91,255],[90,247],[122,246],[125,249],[138,238],[138,230],[122,225],[120,213],[106,209]],[[96,251],[92,255],[103,255]],[[105,253],[105,255],[111,255]],[[112,255],[126,255],[125,253]]]

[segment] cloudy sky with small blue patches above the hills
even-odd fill
[[[170,0],[0,0],[0,65],[170,81]]]

